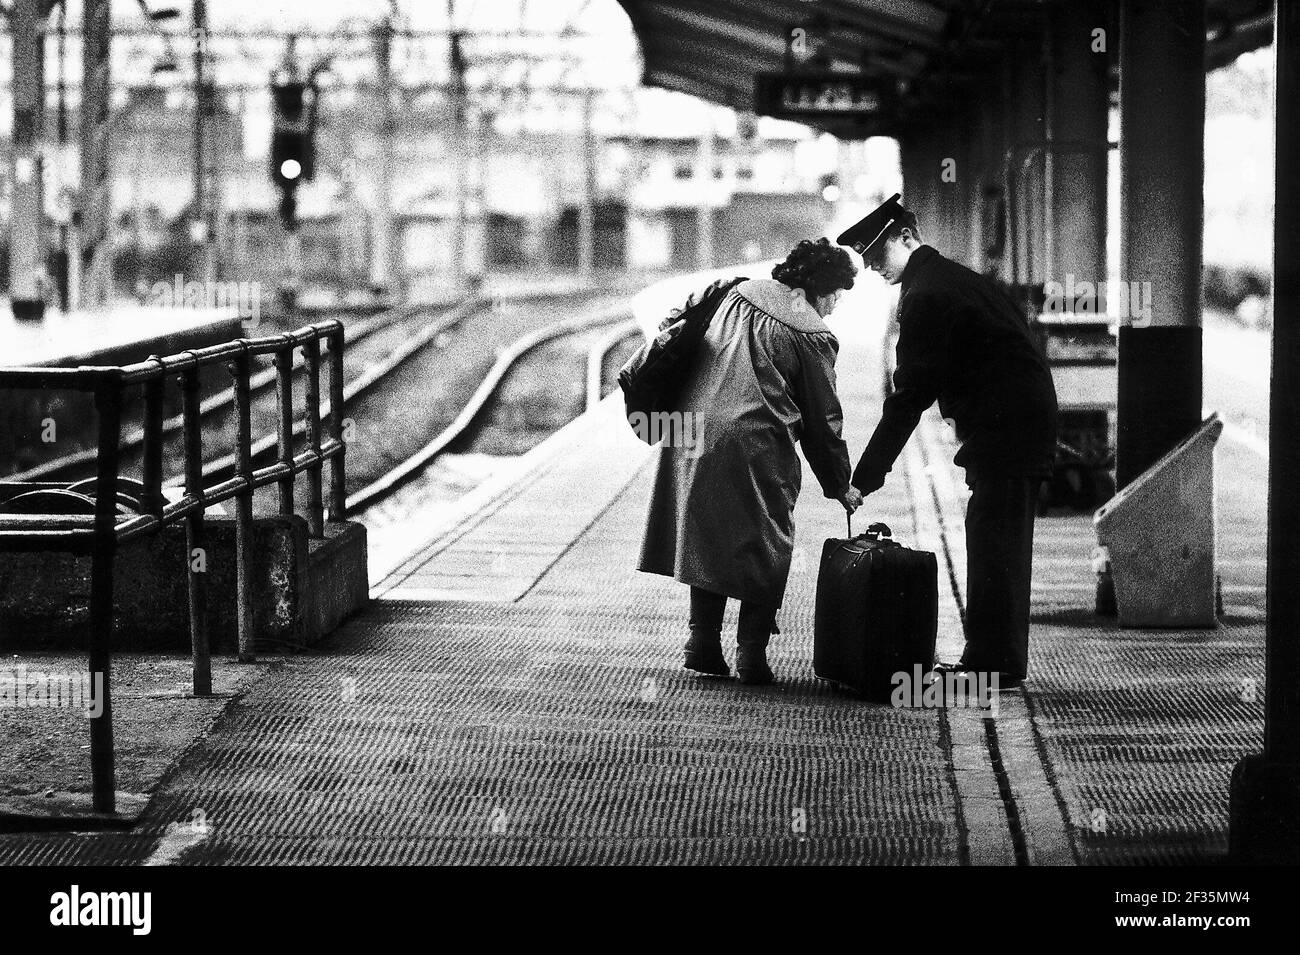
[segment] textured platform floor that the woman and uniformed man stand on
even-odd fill
[[[879,408],[879,339],[832,324],[846,438],[861,450]],[[1228,777],[1262,742],[1254,451],[1218,452],[1234,479],[1219,487],[1217,630],[1098,618],[1091,516],[1045,516],[1030,680],[992,709],[896,708],[812,674],[818,556],[844,512],[811,474],[770,654],[779,682],[680,668],[685,589],[634,570],[654,451],[618,400],[455,507],[411,500],[373,530],[368,607],[317,650],[231,677],[224,711],[130,830],[0,834],[0,861],[1223,859]],[[952,451],[927,417],[855,518],[939,554],[941,659],[961,648],[965,586]]]

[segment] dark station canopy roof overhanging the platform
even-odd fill
[[[824,36],[827,73],[889,90],[874,118],[807,121],[841,136],[892,135],[941,110],[1018,40],[1041,40],[1043,16],[1075,0],[619,0],[644,57],[642,82],[733,109],[755,103],[760,74],[786,65],[792,27]],[[1118,6],[1118,5],[1117,5]],[[1273,40],[1271,0],[1206,0],[1206,69]]]

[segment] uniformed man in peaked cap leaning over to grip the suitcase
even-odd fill
[[[898,195],[845,231],[868,269],[901,285],[893,391],[853,472],[884,485],[936,400],[957,430],[966,507],[966,650],[937,672],[988,672],[1002,687],[1028,673],[1030,577],[1039,485],[1052,470],[1057,400],[1023,312],[991,279],[922,242]]]

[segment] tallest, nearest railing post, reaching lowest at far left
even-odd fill
[[[105,376],[95,388],[99,446],[95,482],[95,539],[90,574],[90,680],[96,677],[99,715],[90,724],[91,800],[96,812],[117,811],[113,765],[113,560],[117,554],[117,465],[122,426],[122,387]]]

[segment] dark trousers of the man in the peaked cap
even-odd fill
[[[966,652],[976,670],[1028,673],[1030,579],[1040,477],[971,476],[966,505]]]

